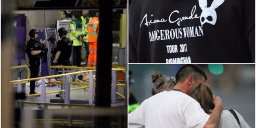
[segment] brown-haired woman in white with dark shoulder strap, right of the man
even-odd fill
[[[200,83],[192,87],[188,95],[197,100],[206,113],[211,113],[214,108],[214,96],[208,85]],[[219,128],[251,128],[237,111],[233,110],[233,113],[234,115],[229,110],[223,109]]]

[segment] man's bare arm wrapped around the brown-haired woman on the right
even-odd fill
[[[213,104],[215,107],[213,108],[213,112],[210,113],[210,118],[204,125],[204,128],[218,128],[219,127],[219,121],[221,117],[221,111],[222,111],[222,101],[217,96],[213,98]]]

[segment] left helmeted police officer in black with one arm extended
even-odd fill
[[[30,78],[36,78],[38,76],[40,58],[45,56],[47,50],[43,49],[43,44],[48,42],[48,39],[43,41],[38,41],[38,32],[35,29],[29,31],[28,35],[30,40],[26,45],[26,53],[28,54],[29,65],[30,65]],[[29,94],[36,94],[35,92],[35,80],[30,81],[30,92]]]

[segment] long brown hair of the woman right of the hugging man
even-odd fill
[[[211,113],[211,110],[214,108],[213,92],[208,85],[200,83],[199,85],[192,87],[188,95],[199,102],[205,113]]]

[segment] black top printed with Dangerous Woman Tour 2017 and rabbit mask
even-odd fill
[[[129,63],[255,63],[255,0],[132,0]]]

